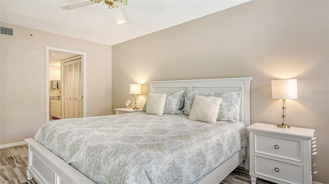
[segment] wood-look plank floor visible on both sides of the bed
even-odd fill
[[[28,165],[27,145],[0,149],[0,181],[3,184],[37,184],[34,179],[28,181],[26,169]],[[237,167],[220,184],[250,184],[249,171]],[[257,184],[275,184],[257,179]]]

